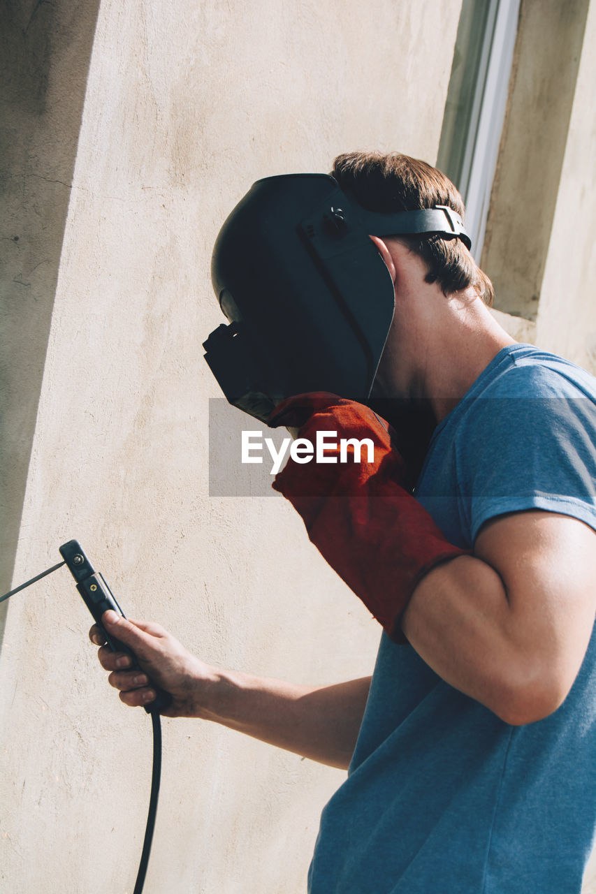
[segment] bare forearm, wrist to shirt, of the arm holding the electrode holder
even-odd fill
[[[347,769],[370,677],[326,687],[216,671],[201,716],[319,763]]]

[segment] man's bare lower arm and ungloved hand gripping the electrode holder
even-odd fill
[[[158,624],[106,612],[108,633],[129,645],[146,673],[127,671],[130,659],[101,645],[99,661],[124,704],[149,704],[148,679],[171,693],[168,717],[200,717],[259,738],[287,751],[347,769],[369,693],[370,678],[334,686],[297,686],[278,679],[222,671],[200,662]],[[89,637],[105,642],[93,626]]]

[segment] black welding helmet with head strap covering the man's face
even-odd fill
[[[254,183],[221,228],[211,260],[229,325],[203,347],[227,400],[263,422],[293,394],[366,401],[395,305],[369,233],[426,232],[469,246],[451,208],[366,211],[321,173]]]

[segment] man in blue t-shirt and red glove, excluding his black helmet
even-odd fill
[[[407,156],[340,156],[334,176],[370,210],[463,213],[447,178]],[[208,667],[154,624],[106,615],[106,629],[172,693],[168,716],[349,767],[312,894],[579,894],[596,823],[596,383],[498,326],[461,240],[372,238],[396,310],[371,406],[408,468],[350,401],[306,395],[273,420],[368,426],[379,444],[357,473],[290,460],[276,483],[383,623],[371,680],[296,687]],[[413,433],[408,406],[422,408]],[[102,646],[99,660],[125,704],[151,701],[126,656]]]

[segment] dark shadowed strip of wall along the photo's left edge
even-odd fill
[[[13,576],[98,7],[0,0],[0,593]]]

